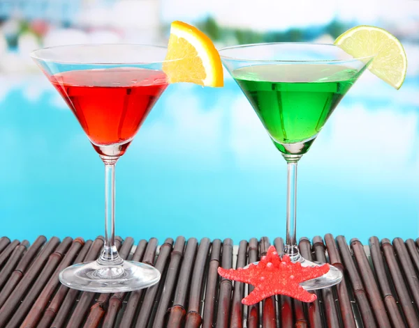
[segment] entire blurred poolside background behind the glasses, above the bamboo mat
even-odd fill
[[[87,42],[166,45],[170,22],[216,47],[333,42],[387,29],[409,59],[399,91],[365,73],[300,161],[297,237],[418,237],[419,1],[0,0],[1,235],[103,233],[103,164],[29,52]],[[226,73],[172,85],[117,164],[117,234],[285,237],[286,162]]]

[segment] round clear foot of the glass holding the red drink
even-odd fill
[[[119,265],[101,265],[98,261],[67,267],[59,281],[69,288],[87,292],[129,292],[153,286],[160,272],[145,263],[123,261]]]

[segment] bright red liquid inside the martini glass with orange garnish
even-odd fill
[[[126,143],[122,153],[168,86],[163,72],[142,68],[74,70],[52,75],[50,81],[91,143]]]

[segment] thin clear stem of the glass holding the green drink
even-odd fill
[[[300,159],[300,158],[298,158]],[[287,187],[286,187],[286,243],[284,253],[293,262],[300,260],[297,247],[297,160],[287,159]]]

